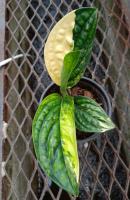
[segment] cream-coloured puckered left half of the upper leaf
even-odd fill
[[[60,85],[64,56],[73,49],[75,11],[65,15],[51,30],[44,48],[44,60],[52,80]]]

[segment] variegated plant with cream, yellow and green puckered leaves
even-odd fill
[[[93,99],[70,96],[68,88],[78,83],[89,62],[97,10],[81,8],[63,17],[52,29],[45,45],[46,68],[60,86],[40,103],[32,125],[37,159],[45,174],[70,194],[79,194],[79,159],[76,128],[104,132],[114,124]],[[86,133],[85,133],[86,132]]]

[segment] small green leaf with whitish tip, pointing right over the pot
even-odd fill
[[[93,99],[83,96],[74,97],[76,128],[83,132],[105,132],[115,125],[103,108]]]

